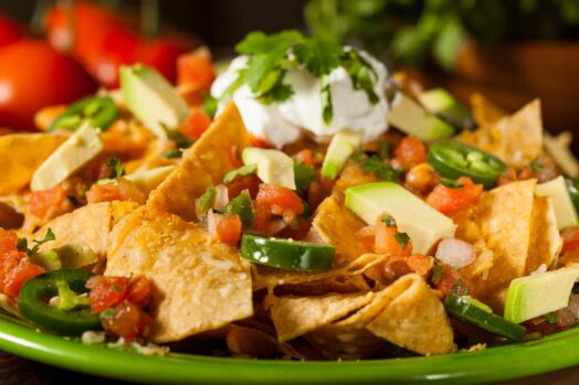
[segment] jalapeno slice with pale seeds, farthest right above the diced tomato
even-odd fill
[[[465,143],[439,141],[430,148],[429,163],[444,178],[470,177],[485,189],[495,185],[507,165],[501,159]]]

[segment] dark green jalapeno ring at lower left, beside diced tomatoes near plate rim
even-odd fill
[[[86,292],[86,281],[93,275],[87,270],[63,269],[34,277],[22,286],[18,307],[34,324],[60,334],[80,335],[86,330],[99,330],[99,314],[91,312],[88,307],[59,309],[49,304],[49,300],[59,295],[59,286],[63,284],[76,293]]]

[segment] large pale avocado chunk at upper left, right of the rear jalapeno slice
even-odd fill
[[[128,109],[160,139],[177,133],[189,116],[189,106],[175,87],[143,64],[120,67],[120,88]]]

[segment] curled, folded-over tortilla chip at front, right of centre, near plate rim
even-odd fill
[[[371,356],[385,340],[421,354],[450,353],[455,349],[440,299],[415,274],[399,278],[355,314],[306,338],[329,359]]]

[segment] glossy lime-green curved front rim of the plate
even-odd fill
[[[161,384],[440,384],[523,377],[579,364],[579,328],[481,352],[357,362],[145,356],[35,331],[0,313],[0,349],[71,371]]]

